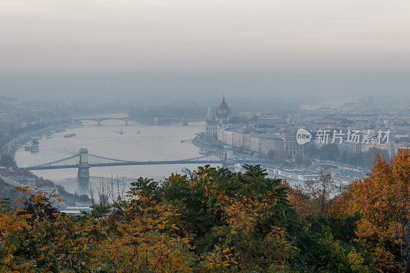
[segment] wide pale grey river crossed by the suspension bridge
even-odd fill
[[[101,116],[101,115],[98,115]],[[113,115],[108,115],[113,116]],[[120,115],[116,115],[117,117]],[[190,142],[181,140],[195,137],[195,133],[203,132],[204,122],[191,122],[188,126],[172,125],[145,125],[129,121],[106,120],[101,125],[95,121],[87,121],[84,126],[67,129],[66,132],[56,133],[53,138],[45,136],[40,139],[40,151],[31,153],[24,151],[24,146],[16,152],[18,166],[43,164],[78,154],[79,148],[87,148],[92,155],[122,160],[176,160],[200,156],[199,149]],[[122,135],[119,132],[124,132]],[[137,134],[139,131],[139,134]],[[65,138],[66,134],[75,133],[76,136]],[[140,166],[112,166],[90,168],[90,179],[77,178],[77,169],[59,169],[32,171],[35,175],[53,180],[63,185],[68,192],[88,194],[90,183],[94,188],[104,177],[111,179],[122,177],[127,188],[138,177],[163,180],[171,173],[181,173],[181,168],[187,166],[190,170],[196,169],[196,164],[186,165],[140,165]],[[216,165],[213,165],[216,166]]]

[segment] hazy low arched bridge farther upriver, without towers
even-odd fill
[[[180,122],[182,125],[188,125],[188,122],[206,121],[203,118],[181,118],[181,117],[96,117],[96,118],[76,118],[76,121],[93,120],[97,122],[97,125],[101,125],[101,121],[104,120],[122,120],[125,125],[128,125],[128,121],[146,121],[153,125],[160,125],[167,121]]]

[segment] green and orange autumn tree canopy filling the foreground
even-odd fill
[[[340,194],[326,174],[292,188],[259,165],[244,167],[141,177],[126,195],[99,194],[81,216],[16,188],[22,206],[0,199],[0,270],[408,271],[408,153],[378,157]]]

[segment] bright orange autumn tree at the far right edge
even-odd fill
[[[410,271],[410,156],[376,156],[368,177],[352,184],[347,211],[360,213],[356,234],[382,271]]]

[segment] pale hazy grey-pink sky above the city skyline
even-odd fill
[[[6,95],[410,99],[407,0],[1,0],[0,39]]]

